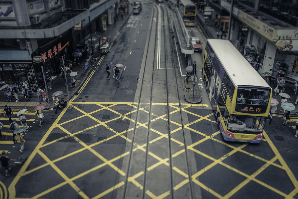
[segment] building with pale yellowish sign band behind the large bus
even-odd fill
[[[234,1],[230,41],[243,53],[251,55],[260,64],[259,72],[283,70],[287,81],[298,76],[298,1],[238,0]],[[213,20],[220,21],[231,12],[231,1],[209,1],[215,13]],[[225,26],[226,21],[221,23]]]

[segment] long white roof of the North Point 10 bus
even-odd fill
[[[207,39],[235,87],[270,87],[229,40]]]

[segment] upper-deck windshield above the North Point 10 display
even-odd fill
[[[269,96],[269,90],[240,88],[237,92],[237,104],[268,105]]]

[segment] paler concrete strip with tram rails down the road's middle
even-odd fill
[[[124,192],[121,198],[147,198],[148,196],[152,198],[193,198],[191,168],[183,125],[183,120],[187,120],[187,118],[183,118],[183,102],[180,99],[180,92],[183,91],[179,91],[182,88],[182,81],[179,82],[181,76],[179,70],[176,70],[176,61],[173,56],[175,49],[174,40],[171,38],[173,27],[168,21],[170,17],[166,7],[156,6],[154,3],[151,5],[154,7],[151,20],[152,28],[148,33],[148,45],[143,58],[144,69],[140,76],[140,80],[142,80],[139,84],[140,92],[135,100],[137,108],[134,117],[132,116],[133,131],[131,136],[128,136],[131,138],[131,143],[129,144]],[[149,82],[150,84],[148,84]],[[144,102],[148,103],[146,114],[139,110]],[[177,115],[171,115],[173,102],[176,104],[179,102],[180,116],[178,118]],[[156,108],[154,105],[159,103],[166,104],[166,106]],[[158,114],[156,114],[157,112]],[[160,119],[159,123],[156,123],[158,119]],[[175,126],[177,119],[180,123],[179,132],[175,130],[177,129]],[[158,126],[156,126],[157,124]],[[173,133],[175,133],[174,139],[172,139]],[[156,136],[160,137],[156,138]],[[178,148],[174,146],[177,142],[181,143],[183,147],[179,148],[179,154],[184,153],[183,165],[187,170],[186,174],[184,167],[179,168],[181,163],[177,161]],[[127,149],[128,146],[126,151]],[[156,161],[158,162],[156,163]],[[163,165],[166,167],[162,167]],[[162,170],[159,171],[160,168]],[[158,171],[152,174],[153,170]],[[183,185],[179,174],[187,178]],[[136,176],[138,180],[136,180]],[[162,183],[163,187],[158,186],[159,183]],[[177,189],[180,190],[177,192]]]

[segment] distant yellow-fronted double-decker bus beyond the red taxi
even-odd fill
[[[195,27],[197,7],[190,0],[179,0],[179,13],[186,27]]]

